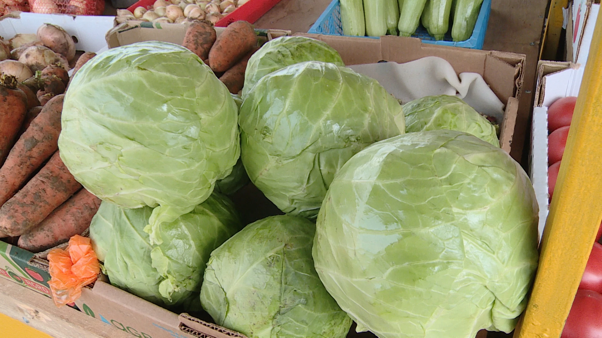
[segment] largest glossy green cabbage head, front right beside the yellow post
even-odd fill
[[[515,327],[538,263],[538,205],[521,166],[457,131],[362,150],[330,185],[315,269],[359,330],[474,338]]]

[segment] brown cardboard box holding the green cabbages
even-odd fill
[[[128,22],[116,26],[107,33],[109,48],[128,45],[138,41],[160,40],[181,44],[184,40],[185,25]],[[221,29],[217,29],[220,34]],[[264,40],[290,34],[288,31],[258,31]],[[506,105],[503,121],[500,121],[501,147],[510,152],[514,124],[518,111],[523,84],[525,55],[507,52],[479,51],[462,48],[448,48],[426,45],[418,39],[401,37],[383,37],[379,40],[337,37],[327,35],[296,34],[317,38],[328,43],[341,54],[346,64],[377,63],[381,60],[406,63],[427,56],[441,57],[450,62],[457,73],[479,73],[490,85],[498,98]],[[235,204],[244,201],[243,221],[250,223],[273,215],[277,209],[265,197],[248,185],[232,197]],[[95,285],[85,288],[76,305],[83,312],[108,325],[131,333],[136,337],[244,337],[225,328],[194,318],[188,314],[176,315],[135,297],[107,280],[96,281]],[[479,333],[479,337],[485,337]],[[348,337],[374,337],[372,334],[356,334],[352,330]]]

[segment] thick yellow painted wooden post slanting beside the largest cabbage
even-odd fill
[[[602,19],[542,239],[539,269],[518,338],[559,338],[602,218]]]

